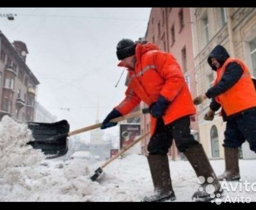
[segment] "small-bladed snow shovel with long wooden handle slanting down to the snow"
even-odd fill
[[[139,141],[144,139],[146,136],[148,136],[150,132],[145,133],[141,137],[134,140],[131,144],[128,144],[126,147],[124,147],[119,153],[114,155],[112,158],[110,158],[108,161],[106,161],[101,167],[97,168],[94,172],[95,174],[90,177],[90,179],[94,182],[96,179],[102,174],[103,168],[105,168],[108,164],[110,164],[112,161],[114,161],[116,158],[118,158],[121,154],[123,154],[125,151],[129,150],[131,147],[133,147],[134,144],[137,144]]]

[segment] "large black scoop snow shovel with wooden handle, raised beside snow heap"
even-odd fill
[[[149,113],[149,108],[112,119],[110,122],[118,123],[125,119],[137,117],[146,113]],[[92,126],[83,127],[81,129],[69,132],[69,123],[66,120],[61,120],[56,123],[29,122],[28,128],[32,131],[35,141],[31,141],[28,144],[35,149],[41,149],[46,155],[51,155],[49,158],[57,158],[65,155],[68,152],[67,137],[97,129],[101,127],[101,125],[102,123],[97,123]]]

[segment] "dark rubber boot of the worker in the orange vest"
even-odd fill
[[[240,179],[239,172],[239,150],[238,148],[224,147],[225,172],[218,176],[218,180],[234,181]]]

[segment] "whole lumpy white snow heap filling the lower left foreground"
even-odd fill
[[[92,182],[102,162],[46,160],[41,150],[26,143],[32,133],[8,116],[0,122],[0,201],[112,201],[127,200],[116,185]],[[92,158],[87,154],[87,158]],[[118,180],[103,175],[102,180]],[[120,193],[121,191],[121,193]],[[131,199],[128,199],[131,200]]]

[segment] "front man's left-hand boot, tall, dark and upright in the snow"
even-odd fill
[[[147,158],[155,190],[154,195],[144,197],[142,201],[175,200],[167,155],[149,155]]]

